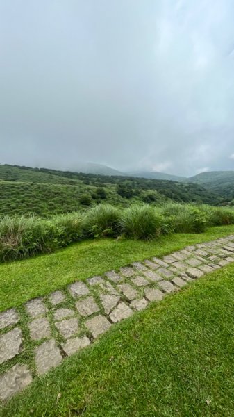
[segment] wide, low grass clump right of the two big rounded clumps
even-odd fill
[[[208,215],[192,204],[166,204],[162,215],[172,222],[176,233],[202,233],[208,225]]]

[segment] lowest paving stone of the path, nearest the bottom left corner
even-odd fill
[[[9,400],[33,382],[33,377],[26,365],[15,365],[0,375],[0,400]]]

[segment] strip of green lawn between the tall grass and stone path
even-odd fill
[[[133,261],[163,256],[186,245],[234,233],[234,225],[211,227],[203,234],[172,234],[151,242],[91,240],[55,254],[0,265],[0,311],[63,288],[76,280],[101,275]]]

